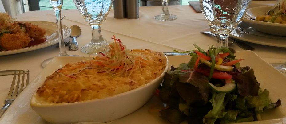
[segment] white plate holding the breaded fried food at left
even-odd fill
[[[57,23],[54,22],[47,22],[47,21],[21,21],[21,22],[30,22],[34,25],[38,25],[40,28],[46,30],[45,36],[47,37],[47,41],[44,43],[26,47],[26,48],[21,48],[21,49],[15,49],[15,50],[9,50],[9,51],[0,51],[0,56],[3,55],[10,55],[10,54],[16,54],[16,53],[21,53],[21,52],[28,52],[40,48],[45,48],[54,44],[58,43],[58,27]],[[70,36],[71,30],[69,27],[66,25],[62,25],[63,29],[63,37],[66,39],[67,37]]]

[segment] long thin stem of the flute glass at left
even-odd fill
[[[58,24],[58,34],[59,34],[59,47],[60,53],[59,56],[68,56],[66,53],[66,47],[64,43],[64,38],[62,35],[62,20],[61,20],[61,8],[54,8],[57,24]]]

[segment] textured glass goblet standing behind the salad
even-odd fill
[[[251,0],[200,0],[202,12],[216,33],[217,47],[228,48],[228,36],[245,14]]]

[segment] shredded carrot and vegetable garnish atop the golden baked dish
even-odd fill
[[[126,46],[120,41],[120,39],[116,39],[115,36],[111,39],[114,39],[114,42],[109,44],[109,50],[105,53],[94,51],[98,56],[92,60],[84,62],[78,66],[58,70],[58,72],[65,76],[73,77],[73,75],[80,73],[86,68],[94,68],[98,70],[97,73],[120,76],[122,74],[127,75],[127,72],[131,75],[133,71],[141,69],[141,64],[147,64],[144,56],[141,54],[129,55],[130,50],[126,49]]]

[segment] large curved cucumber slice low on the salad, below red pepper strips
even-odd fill
[[[233,79],[225,79],[225,82],[222,87],[216,87],[212,83],[209,83],[209,87],[217,93],[230,93],[235,90],[236,84]]]

